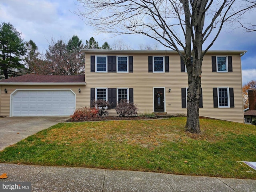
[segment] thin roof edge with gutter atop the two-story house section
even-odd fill
[[[109,53],[109,54],[177,54],[174,50],[110,50],[110,49],[81,49],[85,53]],[[181,50],[182,53],[184,51]],[[242,54],[246,50],[208,50],[206,54]]]

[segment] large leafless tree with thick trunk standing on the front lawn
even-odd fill
[[[143,34],[176,50],[188,72],[186,131],[200,133],[202,60],[224,24],[253,10],[254,0],[77,0],[76,14],[100,32]],[[252,1],[252,2],[250,2]],[[207,40],[207,41],[206,41]],[[202,50],[202,45],[206,47]],[[191,51],[192,49],[192,51]],[[193,63],[191,61],[193,56]]]

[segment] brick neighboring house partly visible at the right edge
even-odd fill
[[[244,122],[252,124],[256,120],[256,88],[251,87],[248,90],[249,108],[244,112]]]

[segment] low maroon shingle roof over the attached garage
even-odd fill
[[[0,84],[84,84],[84,75],[22,75],[0,80]]]

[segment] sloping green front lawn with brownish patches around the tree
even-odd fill
[[[0,152],[0,162],[256,179],[236,161],[256,161],[256,126],[185,117],[60,123]]]

